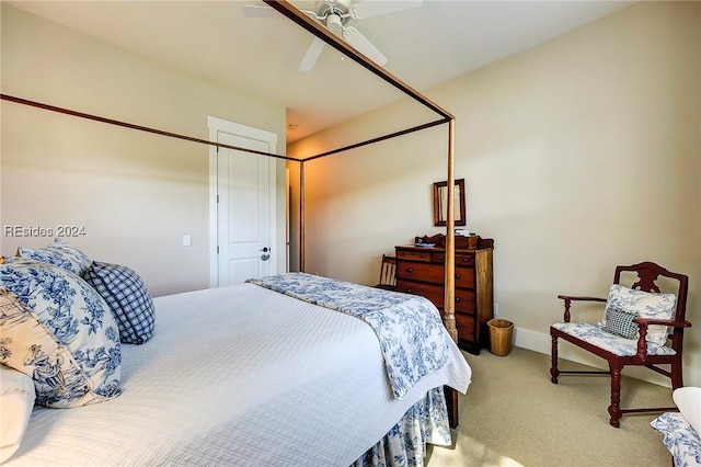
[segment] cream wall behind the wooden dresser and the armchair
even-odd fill
[[[685,375],[701,385],[701,3],[641,2],[426,93],[456,115],[468,227],[495,239],[495,301],[517,344],[549,352],[558,294],[606,295],[617,264],[655,261],[690,277]],[[355,143],[409,109],[288,152]],[[372,284],[382,253],[438,231],[446,135],[308,162],[307,271]]]

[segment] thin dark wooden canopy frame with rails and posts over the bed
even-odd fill
[[[411,128],[406,128],[406,129],[403,129],[403,130],[400,130],[400,132],[395,132],[395,133],[388,134],[388,135],[384,135],[384,136],[380,136],[380,137],[376,137],[376,138],[372,138],[372,139],[368,139],[366,141],[357,143],[357,144],[354,144],[354,145],[350,145],[350,146],[345,146],[345,147],[342,147],[342,148],[338,148],[338,149],[330,150],[330,151],[322,152],[322,153],[319,153],[319,155],[315,155],[315,156],[311,156],[311,157],[308,157],[308,158],[303,158],[303,159],[297,159],[297,158],[291,158],[291,157],[288,157],[288,156],[281,156],[281,155],[276,155],[276,153],[272,153],[272,152],[256,151],[256,150],[252,150],[252,149],[240,148],[240,147],[237,147],[237,146],[225,145],[225,144],[220,144],[220,143],[216,143],[216,141],[209,141],[209,140],[202,139],[202,138],[195,138],[195,137],[191,137],[191,136],[179,135],[176,133],[164,132],[164,130],[161,130],[161,129],[150,128],[150,127],[146,127],[146,126],[141,126],[141,125],[135,125],[135,124],[127,123],[127,122],[120,122],[120,121],[116,121],[116,119],[112,119],[112,118],[91,115],[91,114],[87,114],[87,113],[82,113],[82,112],[78,112],[78,111],[73,111],[73,110],[69,110],[69,109],[58,107],[58,106],[54,106],[54,105],[49,105],[49,104],[45,104],[45,103],[41,103],[41,102],[35,102],[35,101],[31,101],[31,100],[26,100],[26,99],[22,99],[22,98],[18,98],[18,96],[12,96],[12,95],[8,95],[8,94],[3,94],[3,93],[0,93],[0,99],[3,100],[3,101],[14,102],[14,103],[22,104],[22,105],[28,105],[28,106],[33,106],[33,107],[50,111],[50,112],[58,112],[58,113],[62,113],[62,114],[66,114],[66,115],[71,115],[71,116],[76,116],[76,117],[80,117],[80,118],[92,119],[92,121],[95,121],[95,122],[105,123],[105,124],[110,124],[110,125],[122,126],[122,127],[136,129],[136,130],[140,130],[140,132],[152,133],[152,134],[156,134],[156,135],[168,136],[168,137],[171,137],[171,138],[177,138],[177,139],[183,139],[183,140],[187,140],[187,141],[192,141],[192,143],[197,143],[197,144],[204,144],[204,145],[208,145],[208,146],[216,146],[216,147],[221,147],[221,148],[234,149],[234,150],[240,150],[240,151],[244,151],[244,152],[256,153],[256,155],[260,155],[260,156],[266,156],[266,157],[273,157],[273,158],[283,159],[283,160],[287,160],[287,161],[299,162],[300,163],[300,181],[299,181],[299,183],[300,183],[300,270],[304,271],[304,266],[306,266],[304,265],[304,162],[311,161],[311,160],[314,160],[314,159],[319,159],[319,158],[322,158],[322,157],[335,155],[337,152],[343,152],[343,151],[347,151],[347,150],[350,150],[350,149],[359,148],[359,147],[363,147],[363,146],[371,145],[371,144],[375,144],[375,143],[383,141],[383,140],[387,140],[387,139],[390,139],[390,138],[395,138],[395,137],[403,136],[403,135],[406,135],[406,134],[410,134],[410,133],[414,133],[414,132],[418,132],[418,130],[422,130],[422,129],[430,128],[430,127],[434,127],[434,126],[437,126],[437,125],[443,125],[445,123],[448,123],[448,175],[447,175],[447,183],[448,183],[448,186],[453,186],[455,185],[455,171],[453,171],[453,166],[455,166],[455,117],[448,111],[446,111],[445,109],[440,107],[439,105],[437,105],[436,103],[430,101],[428,98],[423,95],[421,92],[418,92],[417,90],[413,89],[409,84],[404,83],[399,78],[394,77],[392,73],[388,72],[387,70],[384,70],[383,68],[379,67],[374,61],[371,61],[370,59],[365,57],[364,55],[361,55],[358,52],[356,52],[354,48],[352,48],[345,42],[343,42],[342,39],[337,38],[335,35],[333,35],[326,29],[322,27],[318,22],[313,21],[311,18],[307,16],[300,10],[295,8],[287,0],[263,0],[263,1],[266,4],[268,4],[269,7],[272,7],[273,9],[275,9],[276,11],[278,11],[279,13],[281,13],[283,15],[285,15],[286,18],[288,18],[289,20],[291,20],[295,23],[297,23],[299,26],[301,26],[304,30],[309,31],[314,36],[317,36],[320,39],[324,41],[326,44],[329,44],[332,47],[334,47],[335,49],[340,50],[341,53],[343,53],[344,55],[346,55],[347,57],[349,57],[350,59],[353,59],[354,61],[356,61],[360,66],[365,67],[366,69],[368,69],[369,71],[371,71],[376,76],[378,76],[379,78],[383,79],[384,81],[387,81],[388,83],[390,83],[391,86],[393,86],[394,88],[397,88],[398,90],[400,90],[401,92],[406,94],[407,96],[414,99],[415,101],[417,101],[422,105],[424,105],[424,106],[430,109],[432,111],[436,112],[438,115],[440,115],[440,118],[437,119],[437,121],[434,121],[434,122],[429,122],[429,123],[426,123],[426,124],[423,124],[423,125],[418,125],[418,126],[414,126],[414,127],[411,127]],[[450,334],[450,338],[453,341],[457,342],[458,341],[458,331],[456,329],[456,320],[455,320],[455,210],[453,209],[455,209],[453,208],[453,198],[452,198],[452,196],[448,196],[448,205],[447,205],[447,212],[448,213],[447,213],[447,219],[446,219],[446,264],[445,264],[446,277],[445,277],[444,323],[446,326],[446,329],[448,330],[448,333]]]

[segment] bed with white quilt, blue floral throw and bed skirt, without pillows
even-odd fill
[[[153,309],[152,337],[120,344],[120,394],[35,407],[3,465],[423,465],[450,444],[443,386],[471,372],[423,297],[289,273]]]

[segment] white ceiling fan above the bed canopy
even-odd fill
[[[324,0],[317,11],[301,11],[348,43],[360,54],[379,66],[383,66],[387,64],[387,57],[357,29],[348,24],[366,18],[417,8],[422,3],[423,0]],[[265,10],[273,11],[269,7],[244,5],[244,12],[249,15],[257,16]],[[300,71],[311,71],[323,48],[324,42],[319,37],[314,37],[298,69]]]

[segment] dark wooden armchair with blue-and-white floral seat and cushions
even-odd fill
[[[621,285],[621,276],[637,274],[630,288]],[[619,428],[624,413],[664,412],[669,408],[621,409],[621,371],[627,365],[644,366],[671,379],[673,390],[682,384],[683,330],[691,323],[685,319],[689,278],[652,263],[643,262],[616,267],[608,298],[559,295],[564,300],[564,322],[552,324],[551,380],[558,384],[561,374],[610,374],[611,403],[608,408],[611,426]],[[662,294],[659,285],[674,288]],[[670,285],[671,284],[671,285]],[[572,322],[573,301],[606,303],[600,323]],[[560,371],[558,339],[605,358],[609,372]],[[666,368],[659,365],[668,365]]]

